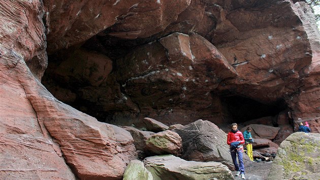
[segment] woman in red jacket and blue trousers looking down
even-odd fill
[[[241,178],[245,179],[244,177],[244,164],[243,164],[243,145],[244,144],[244,138],[241,131],[238,129],[237,123],[233,123],[231,125],[231,131],[228,133],[227,137],[227,144],[230,145],[230,153],[232,157],[233,164],[235,165],[235,168],[237,170],[236,176],[239,176],[241,174]],[[238,161],[237,162],[237,155],[238,155]]]

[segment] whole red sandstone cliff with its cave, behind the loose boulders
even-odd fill
[[[144,117],[320,131],[304,2],[0,1],[0,22],[1,177],[121,179],[136,150],[110,124]]]

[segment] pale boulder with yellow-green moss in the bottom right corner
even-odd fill
[[[320,134],[296,132],[278,148],[268,179],[320,177]]]

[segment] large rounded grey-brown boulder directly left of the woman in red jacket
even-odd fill
[[[227,134],[215,124],[199,119],[172,131],[177,132],[182,138],[182,159],[221,162],[230,169],[234,169],[229,145],[227,144]]]

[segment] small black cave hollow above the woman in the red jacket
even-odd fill
[[[221,101],[227,107],[229,115],[236,123],[244,123],[266,116],[275,116],[286,109],[283,99],[264,104],[241,96],[229,96],[222,97]]]

